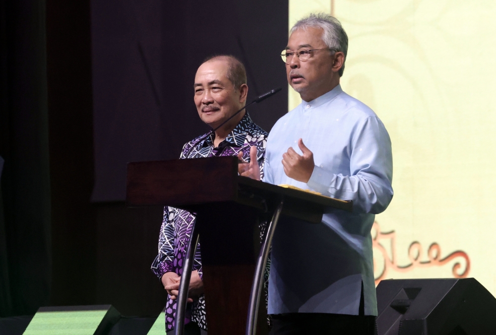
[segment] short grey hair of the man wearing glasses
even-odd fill
[[[322,34],[322,41],[329,49],[334,49],[340,51],[344,54],[345,60],[348,53],[348,35],[341,26],[339,20],[329,14],[325,13],[311,13],[300,19],[295,23],[293,28],[291,28],[290,33],[292,34],[298,29],[307,30],[307,28],[321,28],[324,32]],[[341,77],[344,72],[344,61],[343,66],[339,69],[339,76]]]

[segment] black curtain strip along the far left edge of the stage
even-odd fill
[[[45,1],[0,2],[0,316],[48,305],[51,283]]]

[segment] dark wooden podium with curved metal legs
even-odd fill
[[[189,284],[187,268],[199,235],[211,335],[254,334],[263,268],[279,215],[320,223],[326,207],[352,210],[351,201],[239,176],[237,157],[129,163],[126,204],[174,206],[195,214],[182,288],[187,290]],[[271,216],[260,250],[258,222]],[[186,295],[180,292],[177,315],[182,315]],[[176,325],[179,328],[181,322]]]

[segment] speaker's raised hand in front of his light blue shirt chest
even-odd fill
[[[282,155],[282,165],[284,173],[290,178],[307,183],[310,180],[311,173],[315,164],[313,163],[313,153],[303,144],[303,140],[298,140],[298,147],[303,153],[303,156],[290,147],[287,152]]]

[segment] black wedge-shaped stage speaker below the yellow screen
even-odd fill
[[[496,334],[496,298],[476,279],[388,279],[377,292],[377,335]]]

